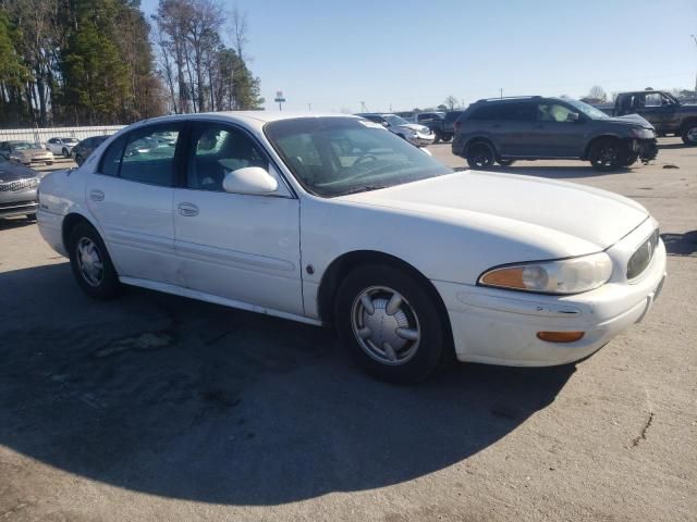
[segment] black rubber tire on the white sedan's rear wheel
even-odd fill
[[[102,266],[100,276],[91,281],[85,275],[86,271],[83,270],[83,265],[86,264],[87,261],[82,261],[82,257],[78,253],[78,247],[83,245],[94,246],[97,254],[96,259],[101,262]],[[119,274],[117,274],[107,247],[95,227],[86,222],[76,224],[68,239],[68,251],[75,281],[85,294],[95,299],[111,299],[120,294],[121,283],[119,282]],[[93,264],[95,258],[91,260]]]

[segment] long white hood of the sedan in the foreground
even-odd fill
[[[417,213],[502,237],[525,235],[537,244],[559,241],[560,256],[604,250],[649,215],[637,202],[606,190],[475,171],[340,199]]]

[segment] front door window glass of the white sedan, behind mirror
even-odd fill
[[[186,188],[223,191],[229,172],[247,166],[269,170],[269,161],[242,130],[218,123],[193,126],[186,170]]]

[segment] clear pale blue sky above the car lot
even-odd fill
[[[157,0],[143,0],[152,13]],[[250,67],[284,110],[411,110],[449,95],[695,86],[695,0],[239,0]],[[230,4],[230,2],[224,2]],[[224,36],[224,35],[223,35]],[[268,110],[278,110],[267,102]]]

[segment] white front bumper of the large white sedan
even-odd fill
[[[583,359],[647,314],[665,278],[662,241],[644,273],[626,281],[626,260],[656,224],[641,226],[607,250],[615,271],[609,283],[574,296],[547,296],[433,281],[448,309],[461,361],[549,366]],[[623,268],[623,269],[621,269]],[[549,343],[538,332],[585,332],[574,343]]]

